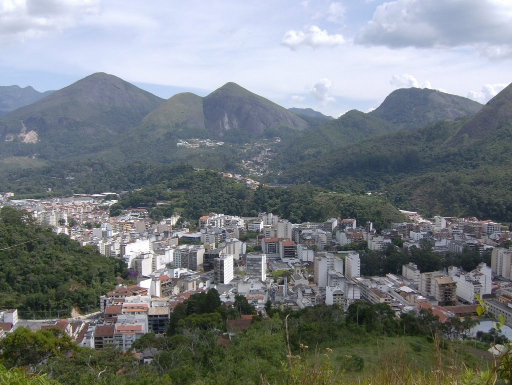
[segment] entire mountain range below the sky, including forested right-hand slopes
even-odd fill
[[[332,119],[287,110],[235,83],[206,97],[164,100],[98,73],[2,117],[0,162],[15,170],[59,160],[184,161],[240,172],[242,160],[257,156],[246,144],[280,137],[269,145],[268,180],[379,191],[406,209],[504,220],[512,216],[511,99],[512,86],[485,106],[432,89],[398,89],[368,114]],[[176,147],[190,138],[227,145]]]

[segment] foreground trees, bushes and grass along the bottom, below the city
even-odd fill
[[[226,339],[221,334],[228,314],[237,318],[238,313],[220,305],[215,290],[182,305],[174,331],[171,326],[165,336],[145,334],[134,344],[140,351],[151,349],[151,364],[112,348],[78,348],[56,330],[18,329],[15,333],[24,337],[13,333],[0,347],[7,349],[8,367],[16,357],[28,357],[23,363],[35,366],[43,378],[66,384],[481,383],[494,365],[485,351],[488,344],[479,343],[479,350],[474,343],[442,339],[443,326],[431,312],[402,320],[388,305],[361,302],[347,315],[326,305],[291,313],[271,309],[269,318],[255,316],[245,330]],[[411,324],[423,329],[404,327]],[[28,345],[34,351],[26,355]]]

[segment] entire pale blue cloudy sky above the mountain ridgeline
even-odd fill
[[[510,0],[0,0],[0,85],[106,72],[163,98],[228,81],[369,111],[396,88],[487,102],[512,82]]]

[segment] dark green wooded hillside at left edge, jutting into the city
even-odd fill
[[[81,247],[66,235],[39,227],[30,214],[0,211],[0,306],[20,318],[69,316],[97,307],[98,296],[115,286],[124,263]]]

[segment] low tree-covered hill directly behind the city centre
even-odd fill
[[[161,204],[152,211],[154,218],[177,211],[192,223],[210,212],[255,217],[260,211],[280,215],[293,223],[353,217],[360,223],[370,220],[380,229],[405,220],[381,196],[336,194],[309,184],[287,188],[261,186],[253,191],[214,171],[195,171],[175,179],[160,179],[158,184],[150,183],[148,187],[121,196],[112,206],[111,214],[118,215],[123,209],[139,206],[155,207],[158,201]]]

